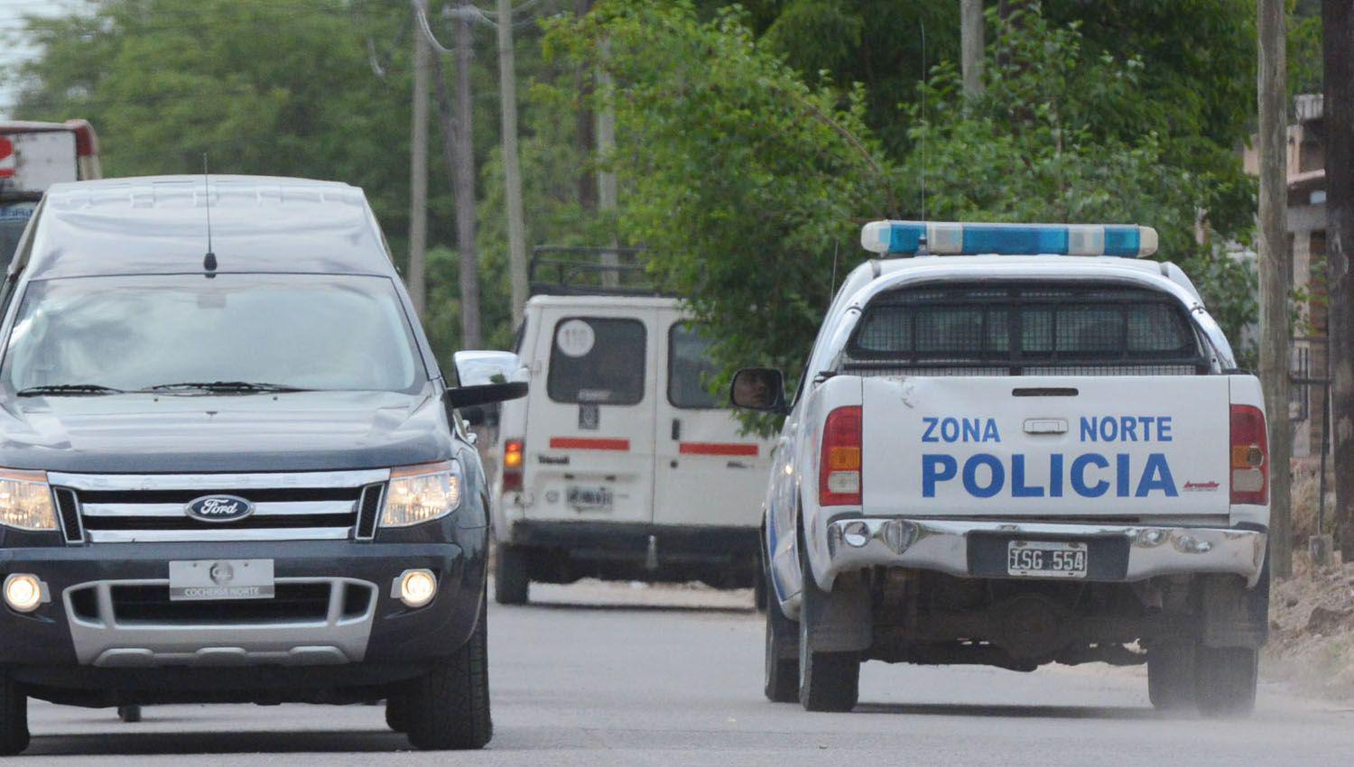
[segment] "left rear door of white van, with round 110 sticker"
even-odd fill
[[[525,437],[528,519],[653,519],[657,310],[547,307]]]

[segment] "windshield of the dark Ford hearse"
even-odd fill
[[[425,371],[387,277],[176,275],[30,283],[0,380],[414,391]]]

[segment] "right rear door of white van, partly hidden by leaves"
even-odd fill
[[[659,312],[654,522],[754,528],[770,461],[742,436],[727,398],[705,387],[709,341],[674,310]]]

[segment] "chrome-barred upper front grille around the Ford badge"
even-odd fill
[[[253,475],[68,475],[51,483],[68,540],[89,542],[344,540],[371,529],[389,471]],[[253,503],[233,521],[191,517],[210,495]],[[362,519],[359,519],[359,507]],[[370,525],[370,528],[368,528]],[[370,538],[370,532],[366,536]]]

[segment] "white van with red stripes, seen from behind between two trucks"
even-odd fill
[[[708,345],[674,298],[527,302],[531,394],[504,403],[497,441],[500,603],[524,603],[532,580],[761,587],[770,444],[704,386]]]

